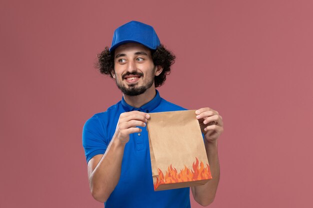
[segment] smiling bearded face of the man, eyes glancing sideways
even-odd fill
[[[150,49],[139,43],[125,43],[118,46],[114,53],[113,78],[117,87],[128,96],[144,93],[154,88],[154,75],[159,75],[154,66]]]

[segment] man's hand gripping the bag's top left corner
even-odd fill
[[[145,127],[149,117],[149,114],[139,111],[121,113],[113,137],[124,144],[127,143],[129,134],[141,132],[137,126]]]

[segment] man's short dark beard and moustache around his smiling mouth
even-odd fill
[[[123,75],[127,76],[127,75],[139,75],[140,77],[143,77],[142,73],[126,73]],[[122,77],[122,79],[124,79]],[[144,93],[147,89],[149,89],[152,84],[154,83],[154,77],[151,77],[150,79],[147,80],[147,83],[144,83],[142,86],[137,87],[137,83],[135,84],[131,84],[128,85],[128,87],[125,87],[123,83],[118,83],[117,79],[115,79],[116,85],[118,87],[118,89],[120,89],[120,91],[127,96],[137,96],[140,95],[142,93]]]

